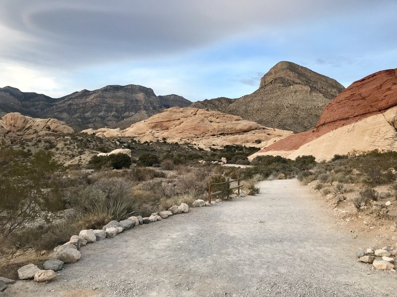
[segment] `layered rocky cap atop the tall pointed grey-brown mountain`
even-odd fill
[[[260,88],[279,78],[289,81],[290,84],[309,86],[312,90],[323,94],[326,99],[333,99],[344,90],[344,87],[336,80],[288,61],[281,61],[275,64],[262,77]]]

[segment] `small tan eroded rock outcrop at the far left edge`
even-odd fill
[[[59,133],[73,133],[65,122],[56,119],[34,119],[24,116],[18,112],[7,113],[0,121],[2,126],[8,132],[16,135],[31,135],[39,132],[59,132]]]

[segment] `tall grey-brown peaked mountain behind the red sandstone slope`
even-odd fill
[[[302,132],[316,126],[324,107],[342,90],[344,87],[334,79],[281,61],[265,74],[254,93],[222,100],[222,103],[211,99],[191,106],[239,115],[268,127]]]

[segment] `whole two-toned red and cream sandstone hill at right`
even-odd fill
[[[315,129],[291,135],[254,155],[329,160],[355,151],[397,151],[397,68],[351,84],[324,109]]]

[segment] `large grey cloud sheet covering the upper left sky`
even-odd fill
[[[0,46],[0,56],[60,68],[162,57],[380,2],[2,0],[0,25],[7,31],[0,42],[8,43]]]

